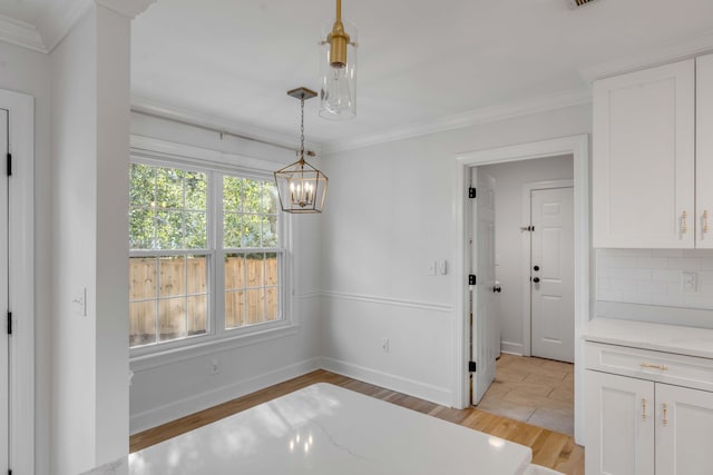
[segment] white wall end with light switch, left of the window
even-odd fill
[[[55,474],[128,453],[129,32],[92,4],[50,55]]]

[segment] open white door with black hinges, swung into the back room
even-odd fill
[[[495,179],[472,168],[471,184],[477,189],[471,206],[471,359],[477,369],[472,378],[472,404],[478,404],[495,379],[495,359],[500,342],[495,329]],[[472,202],[473,200],[471,200]]]

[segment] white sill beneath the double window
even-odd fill
[[[300,325],[285,324],[284,326],[267,328],[250,334],[211,339],[196,343],[194,345],[186,345],[166,350],[157,350],[133,357],[129,356],[129,368],[134,373],[150,368],[157,368],[159,366],[170,365],[186,359],[213,355],[216,353],[227,352],[244,346],[256,345],[276,338],[284,338],[286,336],[296,335],[299,331]]]

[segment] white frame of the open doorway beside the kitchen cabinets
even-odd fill
[[[579,338],[589,321],[589,136],[578,135],[551,140],[520,144],[488,150],[476,150],[456,155],[453,182],[453,275],[460,285],[453,286],[453,378],[452,406],[468,405],[468,281],[465,263],[469,259],[467,202],[468,169],[480,165],[521,161],[559,155],[572,155],[575,185],[575,442],[583,444],[584,406],[583,370],[584,355]]]

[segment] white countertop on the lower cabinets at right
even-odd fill
[[[595,318],[584,329],[587,342],[713,358],[713,329]]]

